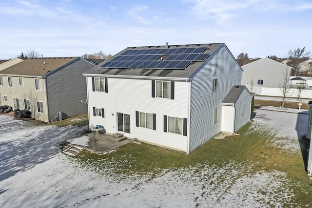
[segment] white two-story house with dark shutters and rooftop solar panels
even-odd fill
[[[235,102],[243,112],[237,119],[222,114],[242,73],[224,43],[126,48],[84,74],[89,126],[189,153],[249,121],[252,96],[245,93]]]

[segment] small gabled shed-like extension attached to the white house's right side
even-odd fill
[[[242,85],[234,85],[221,102],[221,132],[234,133],[250,120],[253,95]]]

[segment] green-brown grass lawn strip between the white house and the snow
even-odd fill
[[[201,168],[205,167],[222,168],[232,163],[243,164],[236,167],[239,169],[237,178],[261,172],[283,172],[290,181],[285,187],[293,193],[291,204],[286,204],[286,207],[312,206],[312,181],[305,171],[301,152],[293,153],[272,146],[273,140],[282,138],[276,138],[271,130],[257,128],[256,124],[248,124],[237,133],[240,135],[225,140],[213,139],[189,155],[147,144],[129,143],[110,154],[82,151],[73,160],[100,174],[109,173],[120,178],[149,175],[151,179],[170,171],[192,167],[196,167],[196,175],[196,171],[200,173]],[[219,179],[218,185],[223,183],[222,180],[226,179]],[[261,194],[265,196],[268,193]]]

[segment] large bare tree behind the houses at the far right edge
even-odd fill
[[[291,74],[293,76],[297,76],[298,72],[300,71],[300,68],[302,66],[302,63],[300,63],[300,59],[304,57],[309,57],[311,54],[310,51],[306,52],[306,47],[303,48],[295,48],[288,51],[289,59],[291,60],[288,65],[292,67]]]

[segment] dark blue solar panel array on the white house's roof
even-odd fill
[[[127,50],[100,68],[185,69],[193,61],[204,61],[206,47]],[[164,60],[159,60],[165,57]]]

